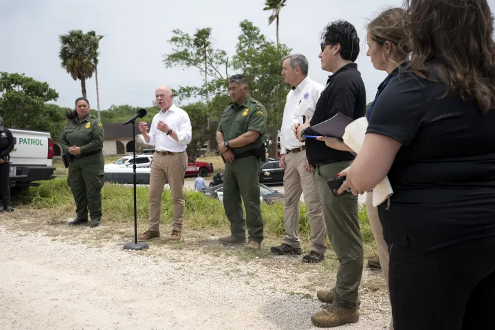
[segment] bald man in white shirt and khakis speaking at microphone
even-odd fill
[[[161,111],[153,117],[150,133],[147,133],[146,122],[140,122],[139,125],[146,143],[155,145],[149,186],[149,226],[139,240],[148,241],[159,237],[162,193],[167,182],[173,201],[173,228],[170,239],[179,240],[184,225],[185,203],[182,189],[187,168],[186,148],[191,140],[192,128],[186,111],[173,103],[170,87],[158,87],[155,97]]]

